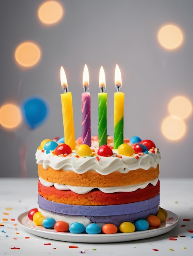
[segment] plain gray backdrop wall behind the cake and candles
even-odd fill
[[[63,137],[60,66],[73,95],[75,137],[81,136],[81,93],[84,64],[89,68],[91,132],[98,134],[98,77],[106,74],[108,128],[113,135],[114,71],[118,63],[125,93],[124,137],[151,139],[160,149],[160,177],[193,177],[193,118],[186,120],[186,135],[166,139],[161,123],[169,115],[168,103],[176,95],[193,101],[193,1],[192,0],[63,0],[61,22],[45,26],[37,18],[40,0],[0,1],[0,106],[20,104],[40,95],[49,104],[49,118],[29,130],[0,128],[0,176],[38,177],[35,150],[45,138]],[[158,29],[169,22],[184,32],[184,43],[167,51],[157,40]],[[37,66],[19,68],[13,54],[25,40],[42,49]],[[20,158],[20,150],[26,156]],[[22,163],[22,164],[21,164]],[[26,170],[25,171],[25,166]],[[21,171],[23,170],[23,171]]]

